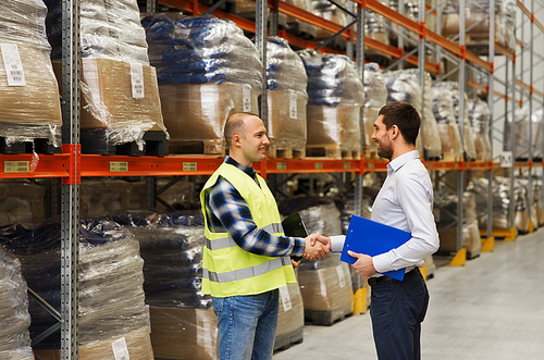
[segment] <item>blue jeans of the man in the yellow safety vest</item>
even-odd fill
[[[212,298],[220,360],[270,360],[274,351],[279,290]]]

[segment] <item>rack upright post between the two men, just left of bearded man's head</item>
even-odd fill
[[[361,83],[364,84],[364,7],[361,3],[357,5],[357,42],[356,42],[356,57],[357,57],[357,71],[359,73],[359,78]],[[362,92],[364,96],[364,92]],[[364,117],[363,108],[361,107],[359,115],[359,124],[361,131],[361,157],[364,154],[364,149],[362,146],[364,139]],[[362,173],[362,172],[361,172]],[[358,174],[355,177],[355,214],[361,215],[362,207],[362,174]]]

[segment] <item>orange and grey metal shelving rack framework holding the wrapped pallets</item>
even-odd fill
[[[199,14],[206,12],[209,8],[199,4],[195,0],[159,0],[160,3],[172,5],[180,10]],[[436,49],[445,50],[447,57],[453,57],[461,64],[459,66],[459,74],[463,73],[465,63],[471,63],[474,66],[483,70],[489,75],[489,94],[495,94],[494,91],[494,61],[493,57],[495,51],[502,52],[506,57],[511,57],[512,63],[515,60],[514,55],[509,55],[506,51],[503,51],[499,47],[496,47],[493,41],[490,42],[489,59],[483,60],[475,53],[467,50],[466,45],[462,44],[463,38],[460,38],[461,45],[456,45],[446,38],[442,37],[438,33],[432,32],[425,27],[424,17],[420,16],[419,23],[413,22],[403,14],[399,14],[390,8],[383,5],[376,0],[358,0],[357,3],[357,24],[359,25],[358,34],[353,34],[350,30],[342,32],[338,36],[344,36],[350,41],[356,41],[356,59],[357,67],[362,80],[362,69],[363,69],[363,46],[369,46],[373,49],[380,50],[383,53],[391,54],[396,59],[401,59],[407,62],[417,63],[419,69],[425,69],[426,71],[440,75],[440,70],[436,64],[425,63],[423,57],[418,58],[413,54],[405,57],[403,49],[394,48],[391,46],[385,46],[379,41],[372,39],[364,39],[363,20],[364,10],[372,10],[387,20],[393,21],[407,30],[416,34],[420,38],[419,49],[420,53],[424,53],[421,50],[425,46],[434,45]],[[463,3],[463,2],[462,2]],[[532,40],[534,39],[532,32],[534,26],[537,26],[542,32],[544,27],[534,17],[533,7],[534,0],[531,0],[531,11],[523,10],[522,3],[518,1],[518,5],[531,18],[531,64],[533,62],[533,50]],[[149,0],[148,9],[153,10],[156,2]],[[264,8],[265,4],[262,0],[257,1],[257,22],[250,22],[242,17],[237,17],[232,14],[218,13],[220,17],[228,17],[235,21],[238,26],[248,32],[254,32],[257,35],[258,44],[261,44],[261,54],[264,59],[265,57],[265,22],[264,22]],[[420,0],[420,9],[424,9],[424,1]],[[494,7],[491,7],[494,9]],[[281,12],[287,13],[289,15],[296,16],[302,21],[314,23],[325,29],[333,33],[339,33],[344,28],[337,24],[326,22],[325,20],[314,16],[308,12],[297,9],[284,1],[276,1],[276,7]],[[437,8],[435,8],[437,9]],[[430,9],[428,13],[436,11],[435,9]],[[79,145],[79,5],[77,0],[63,0],[62,2],[63,11],[63,94],[62,94],[62,110],[63,110],[63,147],[61,154],[46,156],[46,154],[18,154],[18,156],[0,156],[3,162],[3,171],[0,170],[1,178],[33,178],[33,177],[54,177],[60,178],[62,182],[61,186],[61,313],[60,313],[60,327],[61,327],[61,358],[63,360],[77,359],[77,259],[78,259],[78,204],[79,204],[79,184],[82,176],[147,176],[148,178],[152,176],[171,176],[171,175],[207,175],[211,174],[217,166],[221,163],[222,159],[218,158],[195,158],[195,157],[141,157],[141,158],[131,158],[131,157],[102,157],[102,156],[88,156],[81,153]],[[215,10],[218,12],[218,10]],[[462,12],[461,12],[462,13]],[[461,15],[461,18],[463,16]],[[493,38],[494,30],[493,23],[491,22],[490,38]],[[462,33],[463,30],[461,30]],[[318,48],[320,45],[313,41],[304,40],[296,38],[294,36],[287,35],[285,33],[279,32],[279,35],[283,35],[287,40],[298,47],[306,48]],[[260,41],[260,42],[259,42]],[[264,50],[263,50],[264,49]],[[337,52],[333,49],[327,49],[322,47],[320,51]],[[542,62],[542,57],[539,63]],[[512,66],[514,67],[514,66]],[[533,97],[541,96],[533,88],[532,72],[530,75],[530,85],[523,84],[522,79],[518,80],[515,76],[515,71],[512,73],[512,89],[521,88],[524,91],[529,91],[531,95],[529,97],[529,102],[533,101]],[[463,76],[463,75],[462,75]],[[461,75],[459,75],[459,84],[465,85],[467,82]],[[461,82],[462,79],[462,82]],[[508,82],[505,82],[507,84]],[[422,84],[422,79],[420,80]],[[529,90],[528,90],[529,88]],[[522,91],[520,90],[520,91]],[[511,96],[508,97],[508,91],[505,91],[505,101],[511,101],[514,112],[514,105],[516,103],[515,91],[510,91]],[[462,98],[462,97],[461,97]],[[493,111],[493,96],[490,96],[490,108]],[[265,112],[264,112],[265,113]],[[495,117],[492,117],[495,119]],[[492,123],[493,125],[493,123]],[[493,135],[493,126],[490,126],[490,135]],[[531,151],[531,150],[530,150]],[[360,208],[361,194],[360,189],[362,183],[362,174],[366,172],[383,172],[385,171],[385,161],[380,160],[329,160],[329,159],[267,159],[262,163],[256,166],[256,169],[263,175],[268,174],[280,174],[280,173],[332,173],[332,172],[344,172],[344,173],[355,173],[356,177],[356,209]],[[491,178],[494,164],[492,162],[443,162],[443,161],[425,161],[425,165],[432,171],[457,171],[459,174],[463,174],[467,170],[474,171],[486,171],[487,177]],[[527,163],[514,163],[510,171],[511,176],[514,176],[514,169],[520,166],[533,165],[531,156]],[[459,183],[462,184],[463,176],[459,176]],[[491,183],[491,182],[490,182]],[[490,187],[491,195],[491,187]],[[491,196],[489,196],[489,201],[491,203]],[[357,206],[359,204],[359,207]],[[489,207],[491,212],[492,207]],[[458,212],[458,218],[461,219],[462,208]],[[510,216],[511,218],[511,216]],[[487,237],[492,237],[491,233],[491,222],[489,222]],[[458,224],[459,226],[459,224]],[[460,236],[461,232],[458,232]],[[460,243],[458,239],[458,248],[460,249]]]

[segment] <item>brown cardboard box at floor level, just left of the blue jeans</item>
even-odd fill
[[[149,311],[151,344],[157,358],[219,359],[218,319],[213,309],[150,307]]]

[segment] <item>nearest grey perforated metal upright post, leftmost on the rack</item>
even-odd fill
[[[71,177],[61,194],[61,359],[77,360],[79,248],[79,1],[62,0],[62,148]]]

